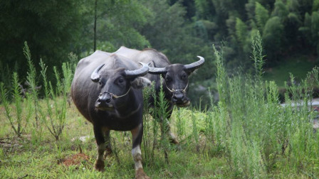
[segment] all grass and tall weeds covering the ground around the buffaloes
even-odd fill
[[[179,146],[168,143],[157,119],[164,116],[165,102],[156,109],[145,105],[142,157],[151,178],[318,178],[319,133],[313,132],[318,112],[308,105],[312,87],[319,82],[315,67],[300,84],[286,85],[286,107],[278,101],[278,87],[263,81],[261,37],[253,38],[253,71],[229,77],[221,52],[214,50],[216,83],[220,100],[204,112],[174,109],[171,123]],[[24,48],[28,58],[28,48]],[[63,65],[63,80],[46,80],[46,65],[38,73],[30,60],[28,82],[37,84],[41,74],[46,96],[30,85],[26,98],[19,96],[19,78],[12,75],[9,90],[1,84],[0,176],[1,178],[133,178],[131,141],[123,132],[111,132],[113,156],[104,173],[93,169],[96,144],[92,125],[68,104],[73,67]],[[61,79],[54,70],[56,79]],[[8,91],[9,90],[9,91]],[[153,94],[152,88],[144,90]],[[12,101],[9,98],[12,97]],[[146,101],[146,99],[145,99]],[[293,105],[293,102],[299,104]],[[36,113],[36,111],[38,113]],[[10,112],[10,113],[8,113]],[[56,131],[56,132],[54,132]],[[60,132],[61,131],[61,132]],[[85,141],[80,136],[88,136]],[[130,136],[130,135],[129,135]],[[81,156],[81,157],[78,157]]]

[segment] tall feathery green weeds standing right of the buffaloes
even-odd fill
[[[259,35],[252,43],[255,75],[229,77],[221,53],[214,50],[220,99],[217,107],[208,112],[214,119],[206,119],[206,126],[210,127],[205,134],[214,142],[213,148],[224,148],[222,152],[233,176],[265,178],[285,156],[291,159],[288,165],[309,173],[310,161],[318,154],[318,134],[313,134],[308,106],[311,87],[318,84],[318,70],[315,68],[298,85],[291,76],[291,85],[286,85],[288,104],[281,107],[275,82],[261,80],[264,56]]]

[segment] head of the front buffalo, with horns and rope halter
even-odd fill
[[[145,63],[137,70],[125,70],[125,68],[105,69],[103,65],[97,67],[91,80],[98,83],[100,94],[95,102],[95,109],[110,111],[115,107],[120,107],[123,102],[127,102],[131,88],[140,89],[150,85],[150,80],[141,77],[147,74],[149,68]]]

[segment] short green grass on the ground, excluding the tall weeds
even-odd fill
[[[41,102],[44,104],[44,102]],[[1,106],[1,111],[3,112]],[[177,116],[179,115],[179,117]],[[211,145],[211,141],[204,135],[206,127],[206,115],[189,109],[175,109],[172,116],[174,133],[177,133],[177,119],[184,120],[185,133],[181,137],[181,150],[169,151],[169,163],[165,162],[164,154],[160,149],[155,151],[155,159],[151,163],[145,163],[145,173],[151,178],[244,178],[236,176],[234,168],[229,165],[225,148],[218,145]],[[193,136],[192,126],[194,117],[198,127],[199,141]],[[93,169],[93,163],[97,155],[92,124],[89,124],[83,116],[71,105],[68,107],[66,132],[59,141],[56,141],[51,134],[43,132],[43,140],[40,143],[32,143],[31,130],[23,132],[23,138],[14,136],[9,122],[0,116],[1,121],[1,152],[0,152],[0,176],[1,178],[134,178],[134,162],[131,156],[131,141],[127,142],[122,132],[112,131],[111,136],[115,141],[117,155],[111,156],[105,163],[108,164],[104,173]],[[215,121],[216,122],[216,121]],[[216,124],[214,125],[216,126]],[[72,141],[79,136],[91,136],[88,141]],[[8,138],[9,139],[6,139]],[[6,140],[5,140],[6,139]],[[11,147],[4,147],[4,142],[11,144]],[[16,144],[16,146],[14,146]],[[197,149],[199,146],[199,149]],[[81,148],[81,149],[80,149]],[[236,151],[239,148],[235,148]],[[82,151],[88,159],[75,162],[74,165],[63,164],[68,158],[72,158]],[[144,148],[142,148],[144,152]],[[313,158],[314,159],[314,158]],[[308,178],[308,174],[301,173],[299,166],[293,166],[291,159],[280,156],[276,163],[271,166],[271,173],[264,175],[266,178]],[[318,176],[318,161],[311,161],[313,173]],[[310,163],[307,164],[307,166]]]

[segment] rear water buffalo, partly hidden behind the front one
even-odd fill
[[[187,97],[187,90],[189,87],[189,75],[194,72],[197,68],[204,64],[204,58],[198,56],[197,62],[182,65],[182,64],[171,64],[167,57],[158,52],[155,49],[147,48],[145,50],[135,50],[130,48],[121,47],[115,53],[123,55],[135,63],[142,62],[150,64],[149,74],[145,75],[149,80],[155,82],[155,91],[160,92],[160,75],[164,78],[162,86],[165,93],[165,98],[169,102],[167,109],[168,118],[172,114],[174,104],[178,107],[186,107],[190,104],[189,98]],[[153,103],[154,100],[151,99]],[[176,137],[169,129],[169,137],[172,143],[178,143]]]

